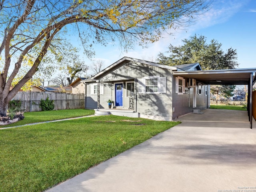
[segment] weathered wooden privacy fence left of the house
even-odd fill
[[[54,100],[54,110],[84,108],[84,94],[45,93],[45,92],[18,92],[12,100],[20,100],[21,111],[42,111],[39,106],[41,99]]]

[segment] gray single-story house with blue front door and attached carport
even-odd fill
[[[85,108],[107,111],[110,99],[114,101],[112,112],[120,109],[123,115],[121,109],[126,109],[142,118],[173,120],[208,108],[210,84],[246,84],[252,92],[255,72],[256,69],[206,71],[199,63],[167,66],[124,57],[80,82],[86,86]]]

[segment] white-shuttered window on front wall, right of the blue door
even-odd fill
[[[138,79],[138,93],[166,93],[166,77],[148,76],[143,77],[142,79]]]

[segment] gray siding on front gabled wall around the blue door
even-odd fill
[[[166,93],[138,94],[138,79],[145,76],[166,77]],[[137,62],[121,63],[112,71],[100,77],[100,82],[104,82],[104,94],[100,95],[100,106],[102,108],[108,108],[106,103],[108,99],[114,100],[114,83],[122,82],[125,85],[126,81],[134,81],[134,111],[145,116],[172,118],[172,70]],[[90,93],[90,88],[87,89],[87,93]],[[130,98],[126,97],[125,89],[123,94],[124,107],[128,108]],[[90,97],[96,101],[97,105],[97,96]]]

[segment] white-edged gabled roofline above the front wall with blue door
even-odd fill
[[[117,66],[118,64],[120,64],[124,61],[140,62],[140,63],[143,63],[143,64],[147,64],[147,65],[151,65],[151,66],[157,66],[157,67],[164,68],[164,69],[170,69],[170,70],[175,70],[175,71],[177,70],[177,68],[174,67],[174,66],[162,65],[162,64],[155,63],[155,62],[150,62],[150,61],[145,61],[145,60],[140,60],[140,59],[135,59],[135,58],[130,58],[130,57],[123,57],[122,59],[120,59],[117,62],[113,63],[112,65],[108,66],[107,68],[105,68],[104,70],[99,72],[98,74],[92,76],[92,78],[90,78],[90,80],[89,79],[88,80],[83,80],[83,82],[92,81],[92,80],[96,79],[98,76],[104,74],[108,70],[111,70],[112,68],[114,68],[115,66]]]

